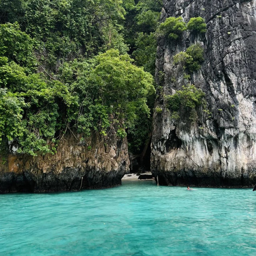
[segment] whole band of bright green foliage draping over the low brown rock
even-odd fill
[[[85,136],[91,130],[106,135],[114,125],[118,136],[124,137],[139,114],[150,112],[146,98],[154,94],[152,76],[118,50],[89,61],[65,63],[60,81],[42,74],[26,75],[8,58],[0,60],[0,84],[7,88],[1,89],[0,136],[15,139],[18,152],[54,153],[57,139],[71,125]]]

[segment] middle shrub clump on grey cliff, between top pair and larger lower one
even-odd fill
[[[201,63],[204,61],[204,49],[200,44],[193,44],[188,47],[186,52],[179,52],[173,56],[174,64],[181,64],[184,69],[189,72],[200,69]]]

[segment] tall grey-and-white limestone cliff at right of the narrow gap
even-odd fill
[[[158,88],[151,170],[159,184],[252,186],[256,183],[256,1],[164,0],[162,20],[201,16],[207,32],[183,32],[176,42],[158,39]],[[185,80],[173,56],[198,43],[204,48],[200,70]],[[208,112],[197,109],[173,120],[164,95],[188,82],[205,93]]]

